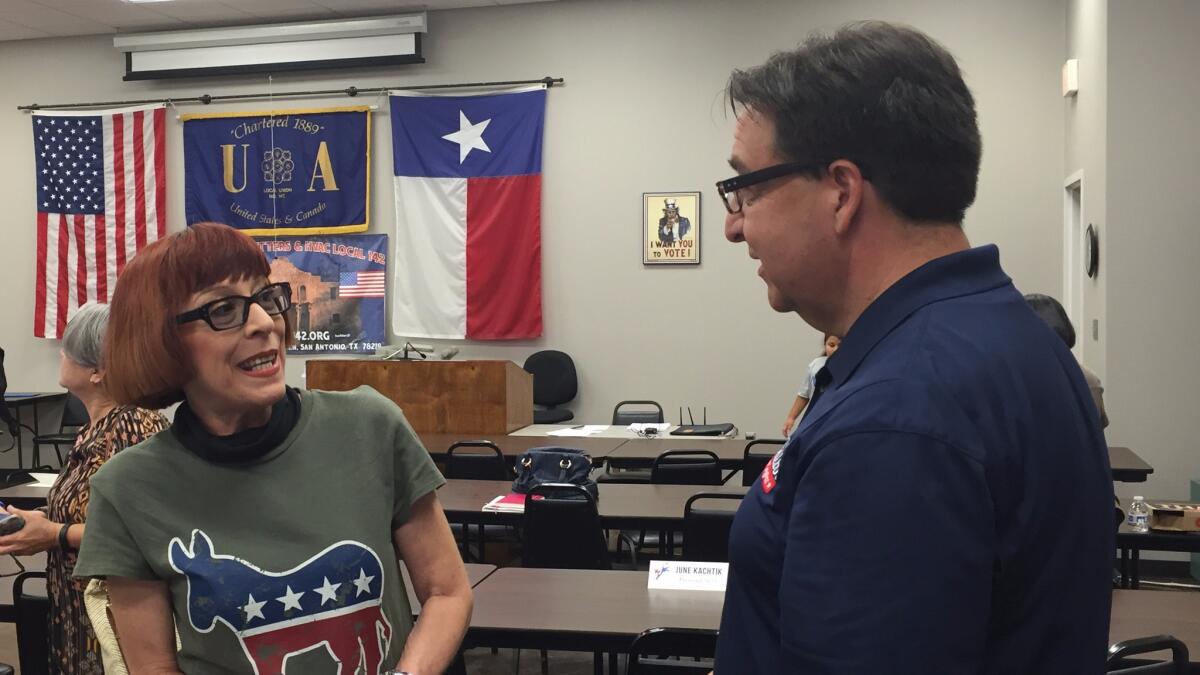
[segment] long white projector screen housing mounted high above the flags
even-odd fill
[[[425,13],[122,35],[125,78],[422,64]]]

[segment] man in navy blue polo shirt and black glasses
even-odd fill
[[[730,537],[716,675],[1102,673],[1099,419],[995,246],[953,56],[883,23],[737,71],[721,181],[776,311],[844,335]]]

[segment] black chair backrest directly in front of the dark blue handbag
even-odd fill
[[[522,566],[608,569],[608,546],[592,495],[569,483],[542,483],[526,495]]]

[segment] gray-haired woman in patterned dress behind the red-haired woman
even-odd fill
[[[59,384],[88,408],[89,423],[79,430],[74,448],[47,496],[46,513],[8,507],[25,526],[0,537],[0,554],[46,557],[46,586],[50,598],[49,673],[101,674],[100,645],[83,605],[85,583],[71,579],[76,551],[83,540],[88,513],[88,480],[119,450],[167,428],[154,411],[118,406],[104,387],[104,330],[108,305],[79,307],[62,336]]]

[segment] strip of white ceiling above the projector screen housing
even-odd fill
[[[0,41],[336,19],[551,0],[0,0]]]

